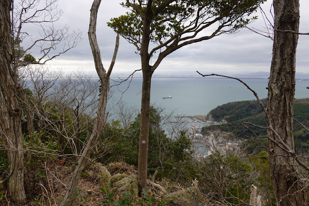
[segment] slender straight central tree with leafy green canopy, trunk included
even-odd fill
[[[264,0],[126,0],[131,11],[112,18],[108,26],[134,44],[143,72],[141,128],[138,157],[140,189],[147,186],[147,153],[151,76],[162,59],[177,49],[222,33],[234,33],[256,17],[252,14]],[[215,28],[214,30],[211,30]],[[200,33],[209,29],[210,35]],[[151,48],[151,46],[153,48]],[[156,55],[156,53],[159,53]],[[156,57],[156,60],[153,60]],[[154,62],[151,64],[151,60]]]

